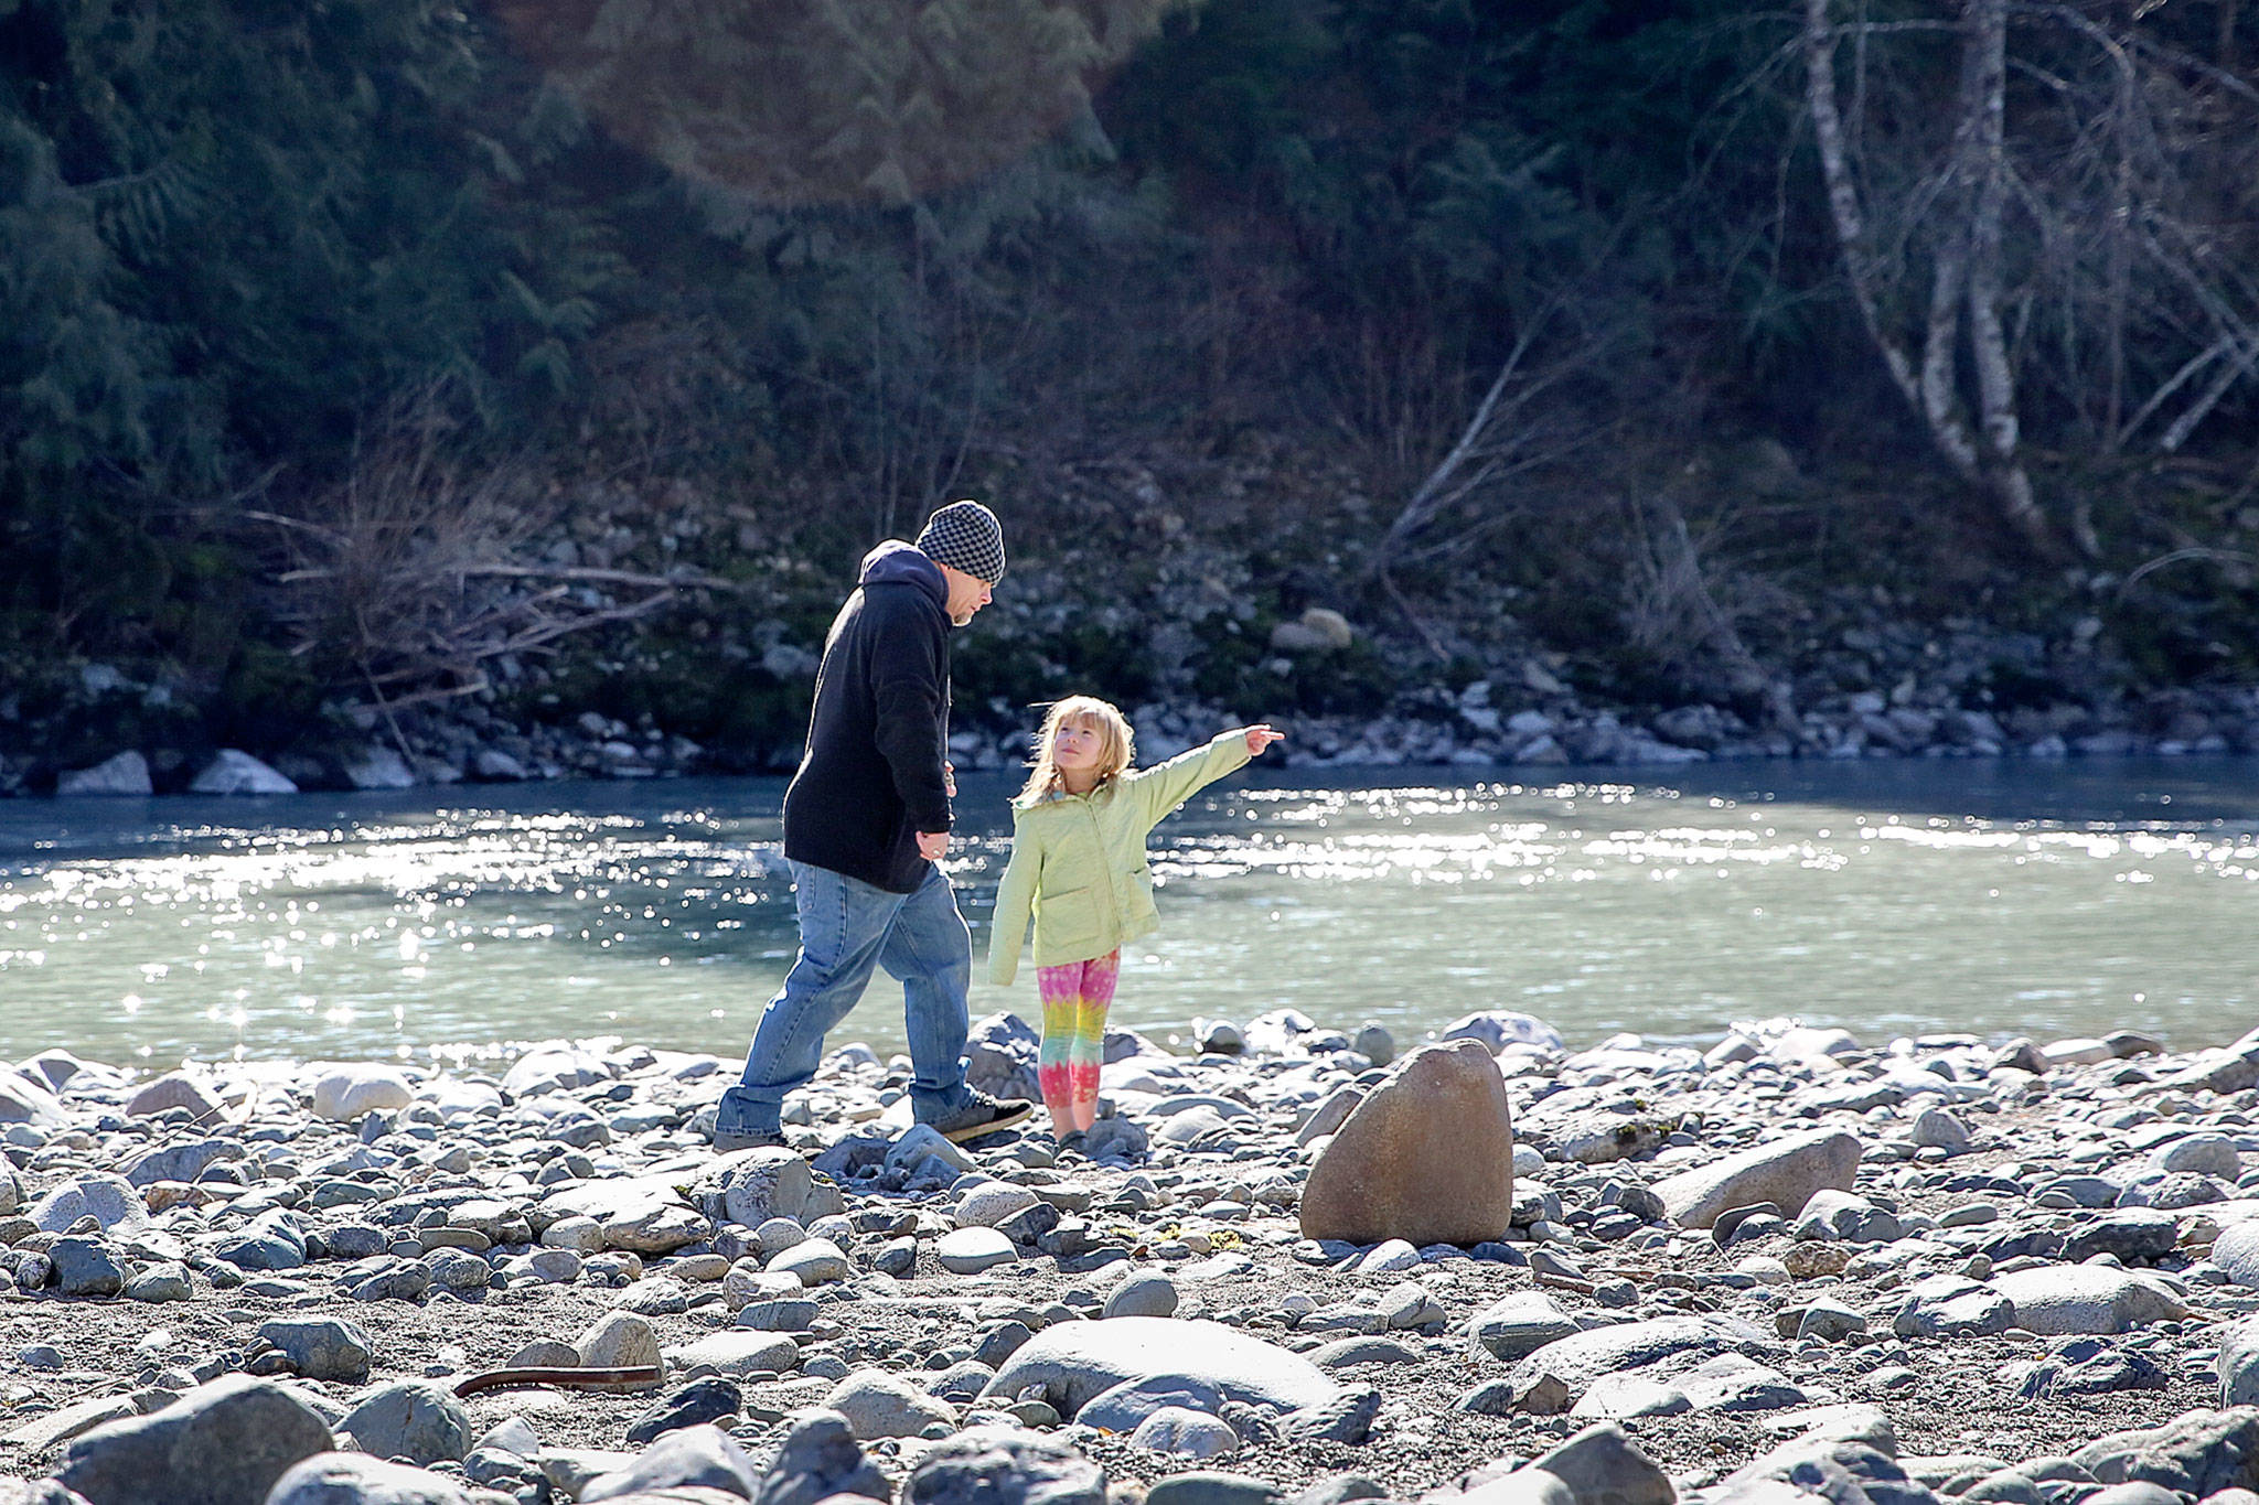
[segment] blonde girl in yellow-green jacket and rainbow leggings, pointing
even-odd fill
[[[1107,702],[1071,695],[1044,718],[1035,772],[1012,801],[1012,862],[996,889],[989,977],[1003,986],[1019,972],[1032,914],[1044,995],[1037,1083],[1062,1142],[1098,1117],[1100,1047],[1120,945],[1161,925],[1145,833],[1283,736],[1236,727],[1206,747],[1134,769],[1130,722]]]

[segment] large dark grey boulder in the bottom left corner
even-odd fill
[[[63,1453],[56,1478],[90,1505],[244,1505],[332,1446],[296,1394],[230,1374],[165,1410],[97,1426]]]

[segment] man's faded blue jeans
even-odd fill
[[[752,1029],[745,1076],[721,1094],[716,1130],[779,1130],[784,1094],[815,1076],[825,1036],[863,997],[874,966],[901,982],[915,1117],[937,1119],[965,1106],[965,988],[974,975],[974,936],[942,869],[931,869],[915,894],[890,894],[795,862],[793,903],[800,954]]]

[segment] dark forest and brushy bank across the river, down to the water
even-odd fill
[[[0,0],[0,785],[775,767],[960,494],[992,733],[2248,688],[2259,11]]]

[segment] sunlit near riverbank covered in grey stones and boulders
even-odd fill
[[[709,1056],[34,1056],[0,1070],[0,1500],[2259,1487],[2259,1031],[1197,1033],[1116,1033],[1078,1146],[951,1146],[845,1047],[795,1148],[736,1155]],[[1032,1047],[983,1020],[976,1081],[1030,1090]]]

